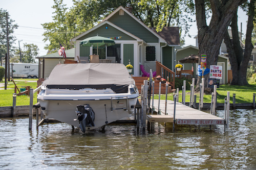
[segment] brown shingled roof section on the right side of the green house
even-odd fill
[[[156,28],[153,28],[153,30],[156,32]],[[180,34],[178,27],[164,27],[162,31],[156,33],[165,39],[167,44],[180,45]]]

